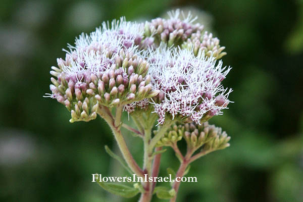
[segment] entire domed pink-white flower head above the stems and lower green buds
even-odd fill
[[[94,119],[98,105],[128,113],[153,109],[159,124],[166,117],[200,123],[222,114],[231,92],[221,85],[230,68],[216,60],[224,47],[212,34],[201,35],[203,26],[192,24],[190,14],[179,16],[177,10],[145,27],[121,18],[80,35],[52,67],[48,96],[71,111],[71,122]]]

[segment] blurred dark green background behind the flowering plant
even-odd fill
[[[181,8],[226,46],[230,109],[210,122],[231,146],[193,163],[178,201],[303,201],[303,1],[14,1],[0,7],[0,201],[136,201],[107,193],[92,173],[124,176],[101,118],[69,123],[49,92],[62,48],[103,21],[145,21]],[[127,116],[125,116],[127,120]],[[125,134],[141,164],[142,144]],[[165,167],[178,168],[169,150]],[[153,201],[160,201],[154,198]]]

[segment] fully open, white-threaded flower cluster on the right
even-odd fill
[[[192,50],[167,48],[165,44],[150,51],[148,61],[151,83],[160,90],[152,99],[160,124],[167,115],[200,123],[227,108],[231,89],[224,88],[221,82],[230,68],[222,67],[221,61],[217,64],[213,57],[202,53],[194,56]]]

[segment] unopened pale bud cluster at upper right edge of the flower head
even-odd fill
[[[217,37],[213,37],[213,34],[204,32],[201,34],[200,31],[193,33],[190,38],[188,38],[183,44],[182,48],[193,48],[193,53],[195,56],[199,52],[205,52],[205,55],[208,57],[213,56],[216,59],[220,59],[226,55],[225,52],[222,52],[225,47],[220,46],[220,40]]]

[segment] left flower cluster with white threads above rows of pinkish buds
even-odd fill
[[[138,51],[142,30],[142,24],[123,18],[111,28],[104,23],[80,35],[65,60],[57,60],[48,96],[71,111],[71,122],[94,119],[98,105],[126,105],[158,94],[147,75],[149,63]]]

